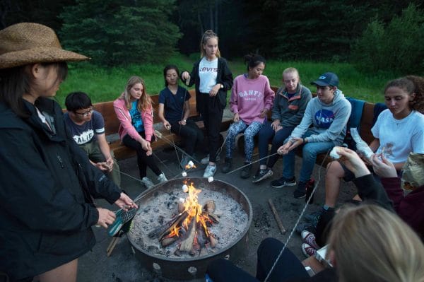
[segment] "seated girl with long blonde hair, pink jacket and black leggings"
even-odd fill
[[[158,168],[152,155],[153,134],[152,100],[146,93],[143,79],[132,76],[126,83],[125,91],[113,102],[114,111],[121,123],[118,134],[122,143],[137,153],[141,183],[147,188],[154,186],[147,177],[147,167],[158,175],[160,183],[167,181],[165,174]]]

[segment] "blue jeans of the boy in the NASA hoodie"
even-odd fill
[[[311,131],[306,131],[302,138],[311,136]],[[287,142],[287,140],[285,141]],[[299,181],[307,182],[310,180],[312,171],[314,171],[317,155],[326,153],[334,147],[332,141],[306,143],[302,148],[302,169],[300,170]],[[287,155],[283,155],[283,177],[291,179],[295,176],[295,151],[290,151]]]

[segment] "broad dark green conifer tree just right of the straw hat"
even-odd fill
[[[179,28],[170,23],[174,1],[77,0],[64,8],[59,35],[95,64],[159,62],[172,56]]]

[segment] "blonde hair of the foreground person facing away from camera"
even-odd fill
[[[329,235],[340,281],[424,281],[424,246],[395,213],[376,205],[343,208]]]

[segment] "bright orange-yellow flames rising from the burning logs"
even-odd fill
[[[189,224],[194,219],[194,220],[196,220],[196,223],[201,224],[201,226],[205,230],[206,236],[208,236],[209,233],[208,233],[208,228],[207,228],[206,223],[211,222],[211,219],[208,216],[206,216],[205,214],[202,214],[202,206],[201,206],[201,204],[199,204],[198,196],[197,196],[201,192],[201,189],[196,189],[196,187],[194,187],[193,182],[188,184],[187,181],[184,181],[184,184],[186,184],[187,187],[189,187],[189,192],[188,192],[187,198],[184,200],[183,206],[184,206],[184,211],[187,211],[187,213],[189,215],[187,216],[187,218],[182,223],[182,226],[186,230],[188,230]],[[178,236],[178,234],[179,233],[177,233],[177,236]]]

